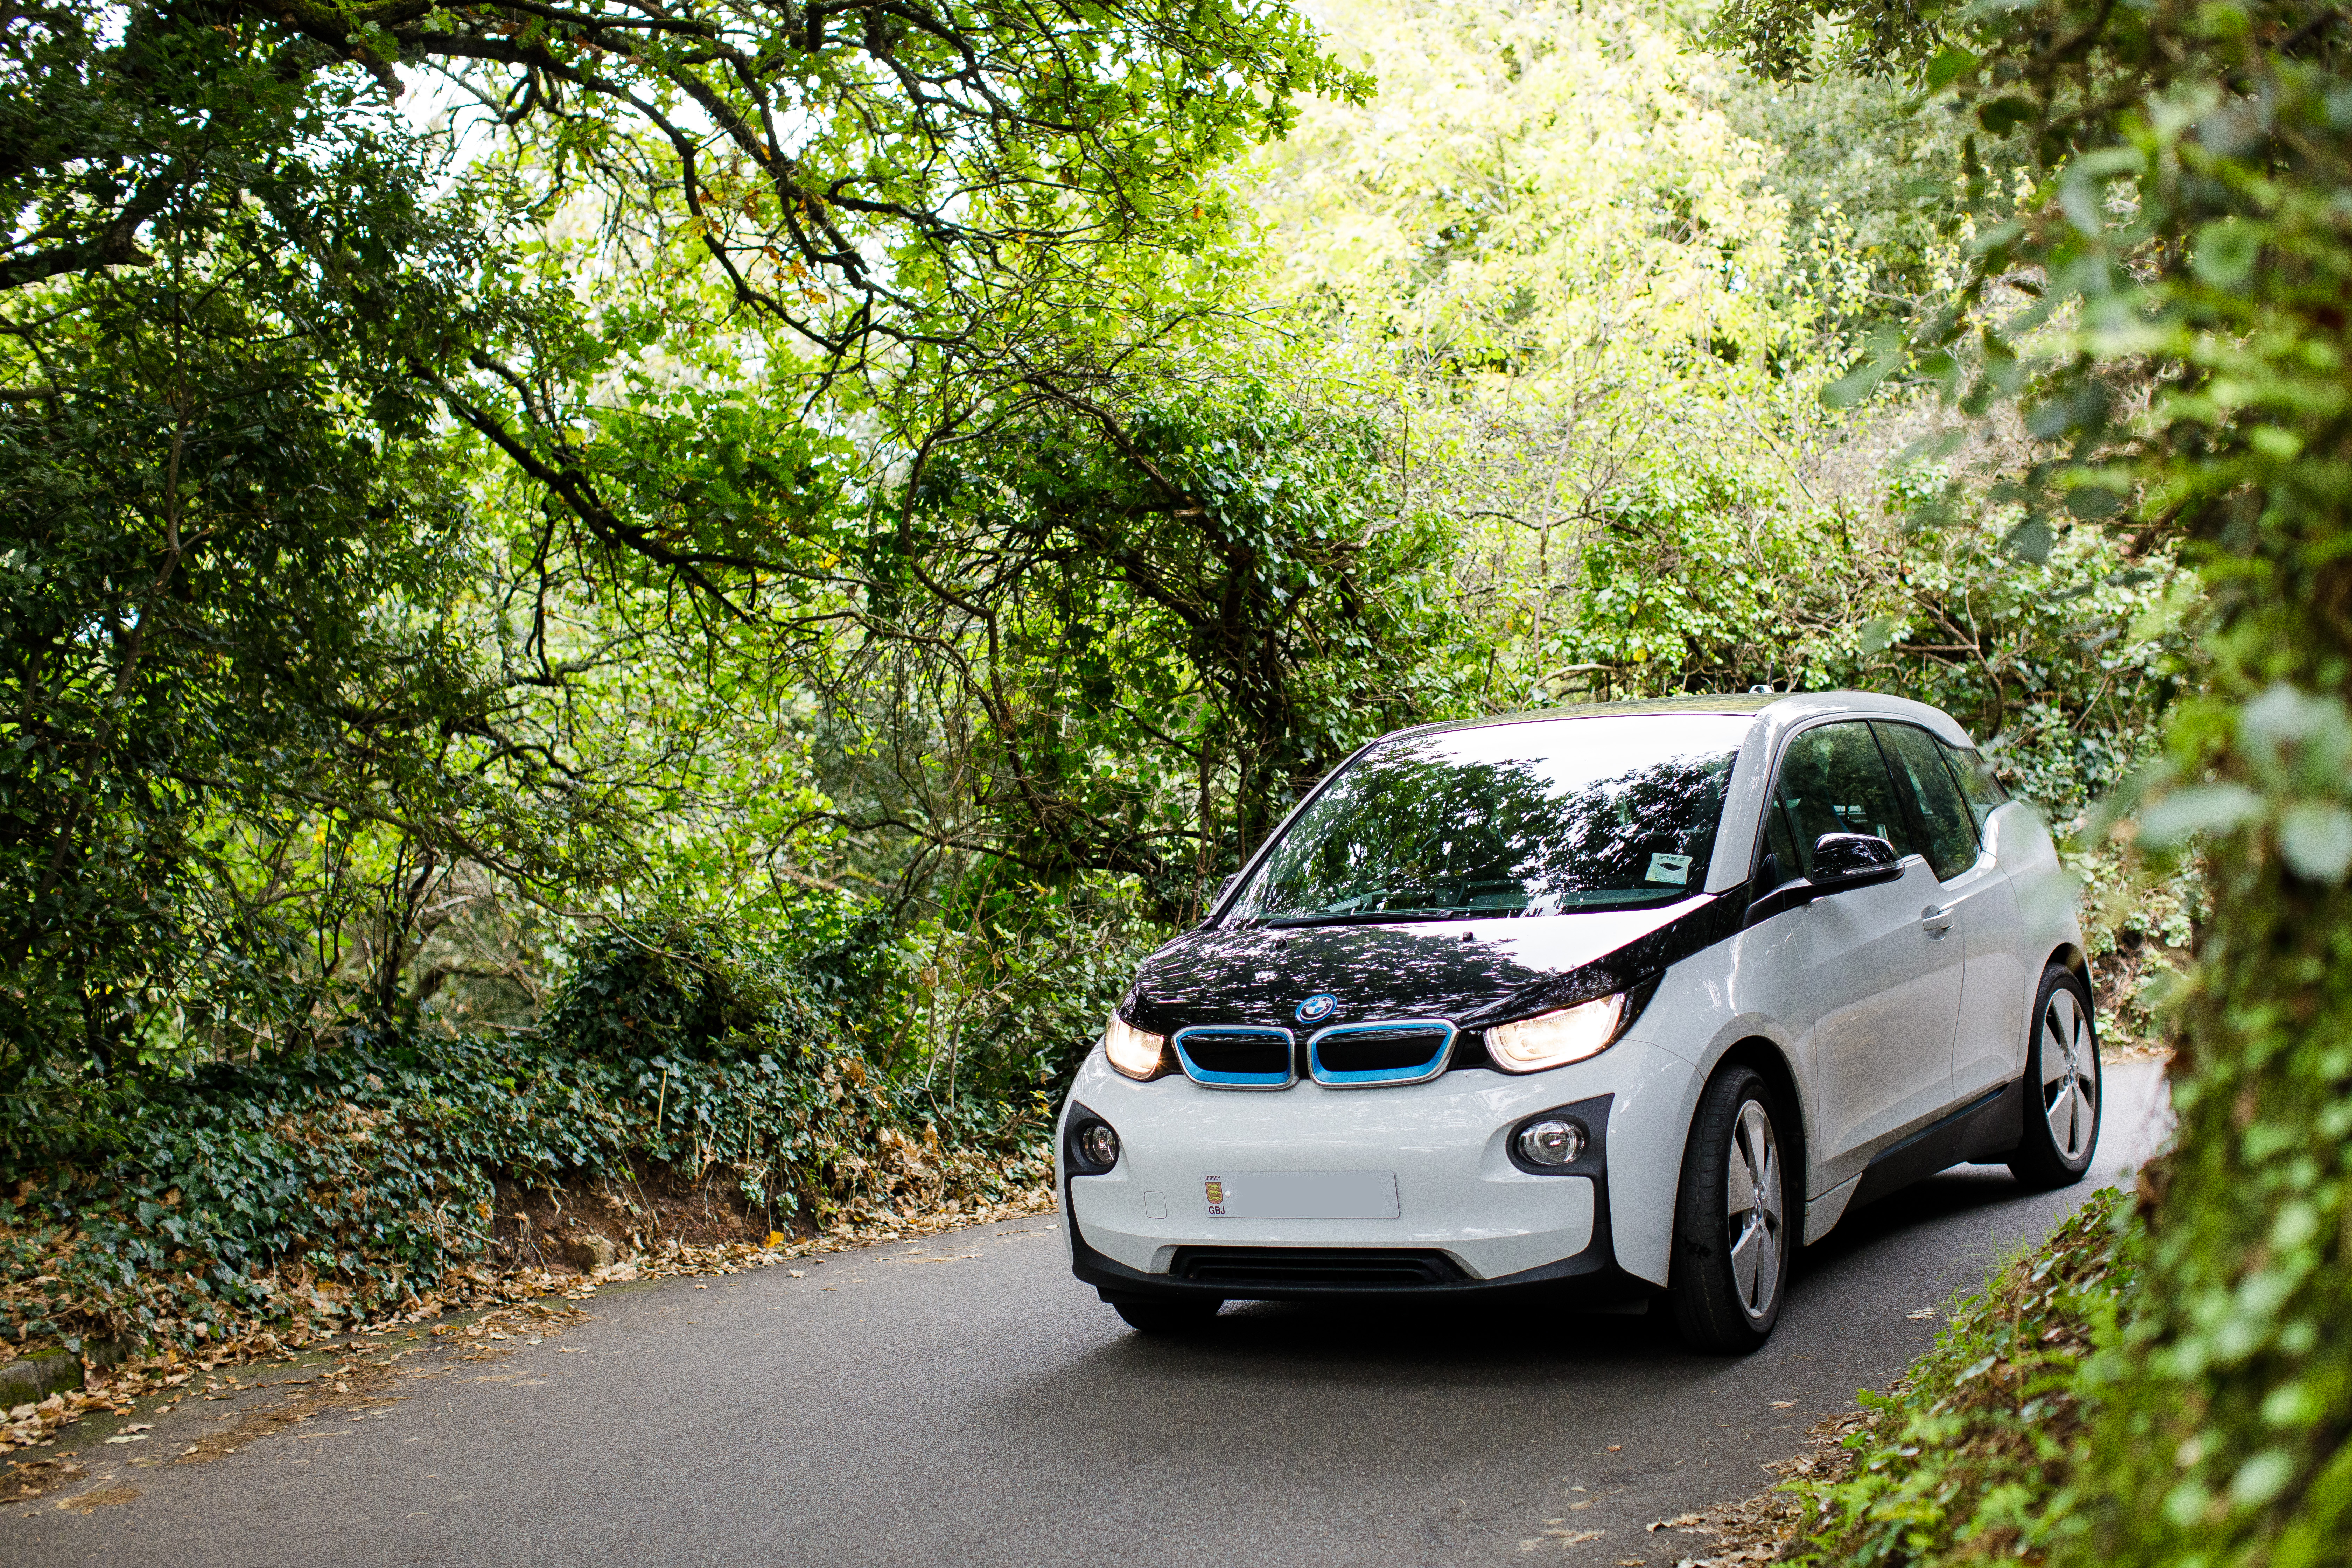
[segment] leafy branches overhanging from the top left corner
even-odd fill
[[[1218,167],[1279,136],[1298,94],[1369,87],[1258,0],[200,0],[134,5],[118,40],[101,7],[59,0],[0,38],[19,148],[0,195],[33,214],[0,284],[136,261],[153,214],[198,188],[226,209],[240,160],[353,113],[348,92],[308,92],[343,61],[388,96],[402,71],[440,73],[548,202],[595,193],[640,256],[684,240],[800,360],[802,400],[896,393],[910,440],[943,378],[1101,388],[1197,317],[1188,259],[1230,221]],[[767,564],[628,517],[534,367],[480,360],[440,371],[442,395],[600,545],[689,574]]]

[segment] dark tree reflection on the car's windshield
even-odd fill
[[[1731,752],[1670,757],[1611,778],[1559,780],[1543,759],[1456,762],[1439,743],[1367,759],[1303,820],[1270,907],[1329,907],[1381,889],[1508,893],[1508,907],[1578,889],[1649,889],[1651,856],[1715,846]]]

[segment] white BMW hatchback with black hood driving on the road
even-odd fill
[[[1148,1333],[1541,1298],[1748,1352],[1839,1215],[2074,1182],[2100,1105],[2070,882],[1950,715],[1684,696],[1348,757],[1143,961],[1056,1180]]]

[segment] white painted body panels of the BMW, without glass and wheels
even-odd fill
[[[1950,877],[1910,853],[1891,882],[1788,907],[1771,907],[1769,891],[1755,886],[1773,780],[1797,736],[1879,719],[1973,748],[1947,715],[1839,691],[1677,698],[1402,733],[1639,712],[1722,712],[1748,724],[1698,886],[1663,907],[1446,926],[1465,945],[1508,952],[1519,969],[1566,973],[1693,912],[1731,910],[1703,933],[1710,940],[1679,943],[1696,950],[1675,950],[1632,1025],[1597,1056],[1541,1072],[1454,1067],[1376,1088],[1308,1077],[1277,1093],[1235,1093],[1185,1072],[1134,1081],[1098,1046],[1077,1072],[1056,1135],[1063,1234],[1082,1279],[1105,1300],[1195,1284],[1225,1298],[1312,1298],[1409,1284],[1383,1274],[1378,1258],[1348,1272],[1352,1253],[1404,1248],[1449,1260],[1454,1288],[1581,1284],[1595,1302],[1663,1288],[1684,1145],[1700,1093],[1726,1060],[1773,1081],[1799,1119],[1783,1133],[1802,1147],[1790,1161],[1802,1171],[1792,1239],[1816,1241],[1856,1199],[2013,1143],[2020,1119],[2039,1110],[2025,1084],[2037,983],[2049,964],[2084,964],[2072,886],[2030,806],[2006,802],[1973,823],[1978,851]],[[1207,926],[1232,903],[1228,896]],[[1228,940],[1237,943],[1232,961],[1247,964],[1249,933]],[[1524,1119],[1604,1098],[1595,1147],[1576,1166],[1588,1175],[1534,1173],[1515,1159],[1510,1140]],[[1120,1154],[1108,1171],[1073,1168],[1073,1114],[1115,1128]],[[1383,1178],[1392,1178],[1392,1197]],[[1211,1204],[1223,1187],[1232,1201]],[[1221,1279],[1211,1269],[1190,1281],[1171,1272],[1183,1248],[1336,1251],[1327,1276],[1315,1258],[1294,1258],[1289,1274],[1228,1269]]]

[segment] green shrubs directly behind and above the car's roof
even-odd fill
[[[1940,494],[1912,470],[1893,515],[1849,520],[1698,465],[1611,491],[1548,689],[1893,691],[1959,717],[2013,790],[2077,816],[2152,757],[2194,670],[2187,574],[2091,529],[2018,562],[2006,512],[1896,522]]]

